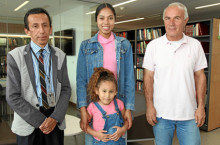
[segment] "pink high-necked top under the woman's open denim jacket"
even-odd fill
[[[103,47],[103,67],[112,71],[117,79],[116,47],[113,33],[108,39],[98,34],[98,41]]]

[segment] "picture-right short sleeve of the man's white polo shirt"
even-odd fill
[[[195,64],[194,72],[208,67],[207,60],[206,60],[206,57],[205,57],[205,53],[204,53],[204,50],[203,50],[202,45],[201,45],[200,42],[198,43],[197,54],[198,55],[197,55],[197,58],[196,58],[196,64]]]

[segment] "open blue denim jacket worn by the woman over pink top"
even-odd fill
[[[125,108],[134,110],[135,85],[133,54],[130,42],[114,34],[117,61],[117,98],[124,102]],[[77,105],[79,108],[88,106],[90,96],[87,84],[95,67],[103,66],[103,47],[98,42],[98,33],[81,43],[77,61]]]

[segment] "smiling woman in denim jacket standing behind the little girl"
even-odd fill
[[[96,22],[99,32],[81,43],[77,61],[77,105],[80,108],[81,129],[87,133],[86,128],[91,121],[86,107],[90,103],[87,95],[87,84],[95,67],[104,67],[114,72],[118,81],[117,98],[124,102],[125,118],[132,126],[131,110],[134,110],[135,84],[133,54],[130,42],[116,36],[114,28],[116,13],[108,4],[100,4],[96,9]],[[92,144],[92,136],[86,134],[86,145]]]

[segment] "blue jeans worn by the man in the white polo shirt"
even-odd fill
[[[200,132],[195,120],[173,121],[157,118],[153,126],[156,145],[172,145],[176,128],[180,145],[200,145]]]

